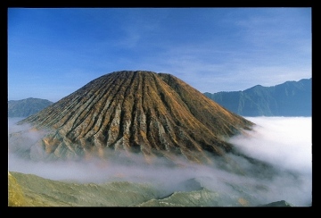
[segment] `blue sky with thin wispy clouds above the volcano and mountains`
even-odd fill
[[[312,77],[311,8],[9,8],[8,99],[56,102],[112,71],[201,92]]]

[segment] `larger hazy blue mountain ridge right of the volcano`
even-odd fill
[[[243,91],[205,96],[242,116],[311,116],[312,79],[286,81],[273,87],[255,86]]]

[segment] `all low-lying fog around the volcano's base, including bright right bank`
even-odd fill
[[[183,180],[206,178],[202,186],[206,189],[231,193],[234,189],[226,182],[250,189],[263,186],[264,190],[253,189],[252,196],[258,197],[258,204],[285,200],[292,205],[308,206],[312,203],[312,119],[311,117],[245,117],[256,123],[246,136],[236,136],[230,142],[244,154],[272,164],[279,173],[271,180],[245,177],[220,170],[213,165],[187,164],[181,160],[181,167],[169,167],[157,160],[157,164],[144,164],[141,155],[120,155],[119,159],[86,162],[35,162],[15,155],[17,149],[24,149],[24,142],[9,140],[8,170],[32,173],[51,180],[77,180],[78,182],[103,183],[109,180],[132,180],[162,184],[169,191],[177,190]],[[17,126],[20,119],[9,119],[9,133],[27,128]],[[29,136],[29,141],[39,138],[37,132]],[[18,145],[17,147],[17,143]],[[20,148],[19,148],[20,147]],[[28,147],[27,147],[28,148]],[[26,149],[27,149],[26,148]],[[135,164],[123,162],[130,158]],[[246,169],[247,160],[232,157]],[[119,161],[120,160],[120,161]],[[141,163],[141,164],[140,164]],[[251,169],[249,167],[248,169]],[[283,173],[284,172],[284,173]],[[291,173],[288,173],[291,172]]]

